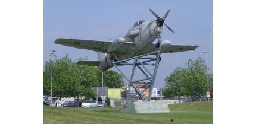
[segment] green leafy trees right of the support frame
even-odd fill
[[[185,68],[177,67],[165,78],[165,97],[205,96],[207,92],[207,65],[202,58],[189,59]],[[209,90],[213,97],[213,74],[209,74]]]

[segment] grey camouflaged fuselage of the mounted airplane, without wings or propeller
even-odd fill
[[[155,39],[157,39],[157,34],[160,34],[161,31],[162,26],[157,26],[156,20],[136,21],[136,23],[129,29],[126,36],[123,37],[125,39],[125,42],[134,43],[133,47],[126,47],[126,49],[124,50],[125,52],[119,55],[114,52],[108,53],[108,55],[105,56],[98,68],[101,70],[107,70],[108,68],[111,68],[113,66],[110,62],[110,54],[113,54],[115,56],[115,59],[119,61],[139,55],[145,47],[147,47],[149,44],[154,42]],[[114,49],[118,49],[118,46],[114,46]]]

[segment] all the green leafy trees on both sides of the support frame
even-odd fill
[[[88,58],[79,58],[79,60]],[[102,71],[96,67],[77,65],[68,55],[53,62],[53,97],[95,97],[95,87],[102,86]],[[104,71],[104,86],[123,87],[123,77],[118,72]],[[207,92],[207,66],[202,58],[189,59],[184,68],[177,67],[165,78],[164,96],[205,96]],[[209,90],[213,97],[213,75],[209,74]],[[51,60],[43,66],[43,94],[51,96]],[[125,97],[126,93],[122,93]]]

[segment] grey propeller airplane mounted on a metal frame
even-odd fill
[[[102,40],[58,38],[54,43],[98,52],[98,61],[81,60],[77,62],[77,64],[97,66],[101,71],[106,71],[113,67],[114,65],[111,63],[112,60],[121,61],[134,56],[155,52],[157,50],[160,50],[160,53],[175,53],[195,50],[199,47],[196,45],[171,44],[170,40],[162,41],[160,34],[163,29],[163,25],[174,33],[174,31],[164,23],[170,9],[162,18],[155,14],[155,12],[150,8],[148,9],[157,18],[156,20],[136,21],[124,37],[120,37],[111,42]],[[153,44],[155,39],[158,39],[158,41]]]

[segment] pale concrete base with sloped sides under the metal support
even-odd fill
[[[170,113],[170,110],[166,101],[136,101],[127,104],[120,112]]]

